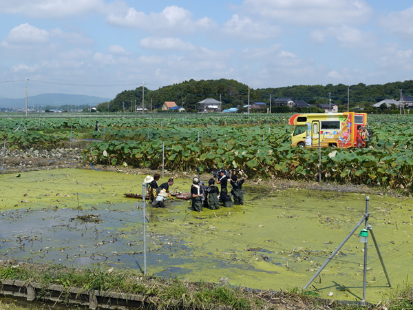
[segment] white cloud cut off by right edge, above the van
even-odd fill
[[[413,6],[401,12],[391,12],[381,17],[379,24],[390,34],[396,34],[402,39],[413,39]]]

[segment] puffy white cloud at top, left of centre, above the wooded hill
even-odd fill
[[[134,8],[124,8],[107,15],[107,23],[120,27],[145,29],[154,34],[182,32],[192,34],[215,27],[215,22],[207,17],[193,19],[189,10],[178,6],[167,6],[162,12],[138,12]]]

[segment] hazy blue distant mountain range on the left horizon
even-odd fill
[[[78,94],[39,94],[28,97],[28,107],[33,105],[43,107],[45,105],[98,105],[99,103],[111,101],[110,98],[86,96]],[[0,95],[0,107],[25,107],[25,98],[9,99]]]

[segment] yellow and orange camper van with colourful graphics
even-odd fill
[[[301,147],[366,147],[372,132],[367,114],[355,112],[294,114],[291,145]]]

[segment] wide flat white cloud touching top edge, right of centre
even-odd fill
[[[313,27],[364,23],[372,15],[364,0],[245,0],[241,9],[278,23]]]

